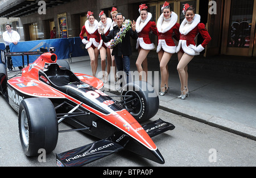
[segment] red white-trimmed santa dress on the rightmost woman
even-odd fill
[[[204,23],[200,23],[200,19],[200,15],[195,14],[192,23],[187,23],[187,19],[184,19],[180,24],[180,40],[176,52],[182,51],[188,55],[195,56],[205,49],[211,38],[205,29]],[[204,42],[196,47],[195,38],[199,33],[204,38]]]

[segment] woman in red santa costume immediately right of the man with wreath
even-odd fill
[[[146,4],[142,4],[139,6],[139,14],[140,16],[136,20],[136,31],[139,35],[136,46],[139,55],[136,61],[136,66],[139,72],[139,80],[142,80],[142,72],[144,72],[144,80],[147,81],[147,55],[151,49],[155,48],[154,43],[152,43],[149,38],[149,34],[152,31],[155,35],[157,35],[157,29],[155,22],[150,21],[152,18],[152,14],[148,13]]]

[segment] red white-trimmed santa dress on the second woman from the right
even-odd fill
[[[158,29],[158,47],[156,52],[159,52],[161,49],[168,53],[176,52],[176,45],[174,40],[172,39],[172,35],[174,34],[174,38],[179,41],[179,23],[177,23],[177,14],[172,12],[171,18],[165,19],[164,15],[161,14],[159,16],[158,22],[156,24]]]

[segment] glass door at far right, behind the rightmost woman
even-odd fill
[[[255,0],[226,1],[222,54],[235,56],[253,55],[255,5]]]

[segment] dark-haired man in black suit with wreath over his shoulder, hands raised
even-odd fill
[[[118,13],[116,15],[117,17],[117,26],[113,27],[113,30],[109,32],[108,36],[105,36],[104,30],[99,29],[99,32],[101,34],[102,40],[107,43],[110,40],[114,39],[114,37],[117,35],[117,33],[120,31],[120,28],[122,28],[123,24],[123,15],[121,13]],[[133,20],[131,23],[131,28],[129,31],[126,32],[125,37],[122,39],[121,43],[118,43],[112,51],[112,56],[115,57],[115,64],[117,65],[118,71],[124,71],[126,73],[126,82],[129,82],[129,71],[130,71],[130,55],[131,52],[131,42],[130,42],[130,36],[133,39],[138,38],[138,34],[136,32],[136,22]],[[121,77],[120,77],[121,78]],[[122,88],[122,82],[120,84],[120,88]]]

